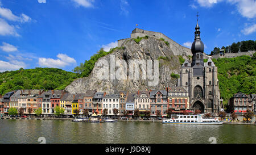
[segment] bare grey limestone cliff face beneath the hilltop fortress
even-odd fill
[[[176,50],[176,51],[174,51]],[[181,68],[179,62],[179,56],[175,56],[175,53],[180,53],[183,55],[184,52],[177,51],[179,49],[172,49],[164,41],[160,39],[155,39],[154,37],[148,36],[148,39],[142,39],[139,43],[136,43],[134,39],[126,39],[121,48],[115,49],[109,55],[101,57],[95,64],[92,73],[88,77],[75,79],[70,85],[68,85],[65,90],[69,93],[85,93],[86,90],[96,89],[98,92],[105,91],[106,93],[117,93],[118,91],[137,91],[137,90],[150,90],[150,89],[166,89],[167,86],[175,86],[177,83],[176,78],[171,77],[171,73],[179,74]],[[114,59],[113,59],[114,57]],[[162,57],[162,58],[159,58]],[[165,59],[163,59],[165,58]],[[189,59],[187,56],[183,58]],[[115,61],[114,61],[115,60]],[[110,66],[117,65],[117,60],[125,62],[124,64],[118,65],[115,68],[115,73],[110,74]],[[129,74],[129,65],[131,64],[130,60],[144,60],[147,63],[147,60],[152,60],[151,68],[154,70],[154,64],[159,60],[158,72],[159,76],[156,85],[150,85],[151,81],[148,77],[146,79],[142,78],[142,71],[146,68],[139,68],[141,73],[139,79],[130,79]],[[108,62],[109,66],[106,66],[105,69],[102,69],[104,63]],[[114,65],[113,65],[114,64]],[[127,69],[125,68],[127,64]],[[157,64],[157,63],[156,63]],[[148,66],[148,64],[147,64]],[[121,79],[117,79],[117,69],[123,70],[125,74],[119,74]],[[135,69],[138,69],[135,67]],[[105,70],[109,72],[108,79],[100,79],[99,75]],[[153,73],[156,70],[154,70]],[[114,77],[114,79],[113,79]]]

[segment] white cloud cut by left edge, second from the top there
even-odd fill
[[[10,26],[5,20],[0,18],[0,35],[2,36],[19,36],[14,26]]]

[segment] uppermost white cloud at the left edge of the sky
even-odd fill
[[[1,6],[1,4],[0,4]],[[0,16],[7,20],[15,21],[15,22],[30,22],[31,18],[25,14],[21,14],[20,16],[16,16],[11,12],[10,9],[0,7]]]

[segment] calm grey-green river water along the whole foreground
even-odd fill
[[[190,125],[153,122],[85,123],[71,120],[0,119],[0,143],[256,143],[255,125]]]

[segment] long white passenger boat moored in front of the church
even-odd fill
[[[200,124],[200,125],[220,125],[223,124],[218,118],[203,118],[201,115],[178,115],[171,119],[163,120],[165,124]]]

